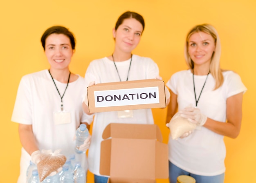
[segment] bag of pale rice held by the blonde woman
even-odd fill
[[[172,139],[177,139],[184,133],[194,130],[196,124],[191,123],[187,118],[181,117],[180,113],[177,112],[169,123]]]

